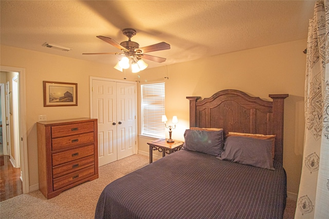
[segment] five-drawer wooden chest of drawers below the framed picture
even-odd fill
[[[36,123],[39,190],[46,198],[98,178],[97,119]]]

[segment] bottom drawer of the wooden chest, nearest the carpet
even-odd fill
[[[90,167],[86,167],[82,170],[78,170],[78,171],[69,173],[67,175],[61,176],[61,177],[53,180],[53,190],[63,188],[65,186],[68,186],[72,183],[83,180],[84,178],[87,178],[94,174],[95,174],[95,166],[93,165]]]

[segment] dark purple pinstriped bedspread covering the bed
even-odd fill
[[[108,184],[95,218],[282,218],[286,173],[180,150]]]

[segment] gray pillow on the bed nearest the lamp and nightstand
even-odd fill
[[[202,152],[214,156],[221,155],[223,151],[223,130],[203,131],[187,129],[184,133],[185,143],[183,149]]]

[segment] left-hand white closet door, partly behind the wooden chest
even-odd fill
[[[93,79],[93,118],[98,119],[98,166],[117,161],[116,82]]]

